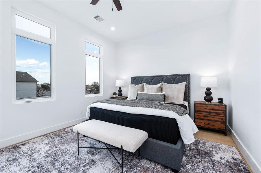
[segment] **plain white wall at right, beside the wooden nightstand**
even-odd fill
[[[254,172],[261,172],[260,2],[234,1],[229,22],[228,125]]]

